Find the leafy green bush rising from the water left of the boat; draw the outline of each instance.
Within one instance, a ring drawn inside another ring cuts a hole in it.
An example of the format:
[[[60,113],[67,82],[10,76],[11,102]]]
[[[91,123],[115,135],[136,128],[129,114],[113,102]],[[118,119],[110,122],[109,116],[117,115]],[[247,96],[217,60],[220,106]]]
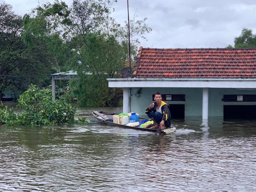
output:
[[[53,125],[58,123],[75,123],[74,115],[77,110],[65,101],[63,96],[52,101],[51,90],[31,85],[18,99],[17,107],[22,111],[15,114],[13,109],[0,109],[0,123],[9,125]],[[86,123],[83,119],[81,123]]]

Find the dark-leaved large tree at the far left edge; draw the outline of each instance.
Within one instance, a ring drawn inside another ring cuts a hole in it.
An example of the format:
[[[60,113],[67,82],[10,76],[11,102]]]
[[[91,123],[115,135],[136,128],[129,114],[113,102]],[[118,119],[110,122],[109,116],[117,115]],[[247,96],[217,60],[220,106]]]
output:
[[[49,85],[50,78],[30,76],[49,76],[57,63],[45,49],[45,42],[34,39],[30,49],[23,43],[22,18],[14,14],[12,6],[0,4],[0,92],[25,91],[30,83]],[[18,77],[15,77],[18,76]],[[21,77],[26,76],[26,77]],[[2,95],[0,95],[0,99]]]

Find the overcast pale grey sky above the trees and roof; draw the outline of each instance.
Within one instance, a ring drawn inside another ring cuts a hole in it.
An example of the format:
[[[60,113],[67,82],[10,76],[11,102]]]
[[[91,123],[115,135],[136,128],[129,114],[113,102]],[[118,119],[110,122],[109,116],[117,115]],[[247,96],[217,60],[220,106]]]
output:
[[[0,2],[3,0],[0,0]],[[5,0],[15,13],[23,15],[38,5],[38,0]],[[52,0],[39,0],[42,5]],[[72,0],[65,1],[71,5]],[[124,25],[127,1],[114,3],[113,17]],[[143,47],[209,48],[234,45],[243,27],[256,33],[256,0],[129,0],[130,18],[137,10],[138,19],[147,17],[153,29]]]

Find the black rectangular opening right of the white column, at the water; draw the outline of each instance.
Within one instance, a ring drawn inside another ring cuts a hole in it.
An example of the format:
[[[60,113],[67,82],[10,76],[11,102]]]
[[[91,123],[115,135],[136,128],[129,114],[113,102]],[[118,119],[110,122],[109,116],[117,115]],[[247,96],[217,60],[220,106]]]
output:
[[[224,119],[256,119],[256,105],[223,105]]]

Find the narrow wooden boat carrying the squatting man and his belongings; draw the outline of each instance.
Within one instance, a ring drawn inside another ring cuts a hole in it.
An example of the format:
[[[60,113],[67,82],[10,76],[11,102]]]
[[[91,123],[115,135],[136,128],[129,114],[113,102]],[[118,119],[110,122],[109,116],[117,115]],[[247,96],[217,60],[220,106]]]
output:
[[[109,125],[128,128],[128,129],[136,129],[136,130],[141,130],[141,131],[157,132],[157,129],[143,128],[143,127],[138,127],[138,126],[127,126],[127,125],[122,125],[122,124],[118,124],[118,123],[113,123],[110,121],[110,118],[112,117],[112,115],[118,115],[116,113],[111,113],[111,112],[107,112],[107,111],[93,111],[92,114],[96,119],[98,119],[102,123],[106,123]],[[143,120],[143,119],[147,119],[147,118],[140,117],[139,119]],[[162,133],[166,133],[166,134],[174,133],[175,131],[176,131],[175,127],[168,127],[166,129],[161,130]]]

